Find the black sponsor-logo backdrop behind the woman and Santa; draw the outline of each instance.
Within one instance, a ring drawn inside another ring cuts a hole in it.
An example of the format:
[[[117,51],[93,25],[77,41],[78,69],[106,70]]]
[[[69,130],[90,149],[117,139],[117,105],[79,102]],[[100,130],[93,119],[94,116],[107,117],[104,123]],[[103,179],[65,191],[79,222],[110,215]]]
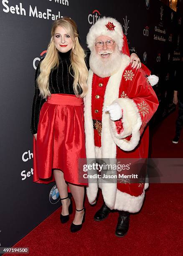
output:
[[[47,11],[53,16],[47,18]],[[60,206],[55,183],[33,183],[30,133],[34,72],[47,49],[54,15],[76,21],[84,48],[92,23],[104,15],[117,18],[130,51],[160,78],[154,87],[160,107],[153,122],[174,109],[173,81],[180,59],[182,20],[160,1],[1,1],[1,246],[15,244]]]

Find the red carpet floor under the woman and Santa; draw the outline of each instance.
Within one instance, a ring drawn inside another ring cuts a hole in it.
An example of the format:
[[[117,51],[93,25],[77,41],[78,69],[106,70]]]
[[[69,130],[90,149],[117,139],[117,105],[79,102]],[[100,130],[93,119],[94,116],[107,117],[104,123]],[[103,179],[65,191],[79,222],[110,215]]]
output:
[[[183,143],[171,143],[175,119],[176,113],[173,113],[153,131],[151,157],[183,157]],[[100,223],[93,220],[102,204],[100,193],[96,206],[91,207],[86,199],[86,220],[78,233],[72,234],[69,230],[74,215],[69,223],[62,225],[61,209],[58,209],[15,247],[29,247],[31,256],[183,255],[182,198],[183,184],[150,184],[142,210],[131,215],[127,236],[117,238],[114,235],[117,212],[110,213]]]

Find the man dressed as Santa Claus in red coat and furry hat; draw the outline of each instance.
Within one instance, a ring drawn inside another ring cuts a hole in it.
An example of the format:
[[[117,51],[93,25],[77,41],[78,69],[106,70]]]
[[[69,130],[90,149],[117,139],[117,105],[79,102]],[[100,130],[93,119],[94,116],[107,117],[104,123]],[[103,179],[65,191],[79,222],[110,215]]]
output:
[[[133,69],[124,54],[121,24],[103,17],[91,26],[87,44],[91,51],[88,93],[84,118],[87,159],[147,158],[148,122],[158,108],[158,99],[147,79],[148,69]],[[110,160],[109,160],[110,161]],[[86,188],[88,200],[95,203],[98,187],[104,204],[94,220],[104,220],[111,210],[119,211],[116,236],[123,237],[129,228],[130,212],[142,206],[147,183],[93,182]]]

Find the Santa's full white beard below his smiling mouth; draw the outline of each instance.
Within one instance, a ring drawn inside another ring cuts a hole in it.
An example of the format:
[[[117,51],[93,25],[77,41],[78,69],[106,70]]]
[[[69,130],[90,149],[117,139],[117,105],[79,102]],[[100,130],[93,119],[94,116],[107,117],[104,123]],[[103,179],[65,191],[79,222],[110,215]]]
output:
[[[109,57],[101,57],[95,50],[91,52],[89,66],[94,74],[99,77],[110,77],[115,74],[121,66],[122,53],[115,50]]]

